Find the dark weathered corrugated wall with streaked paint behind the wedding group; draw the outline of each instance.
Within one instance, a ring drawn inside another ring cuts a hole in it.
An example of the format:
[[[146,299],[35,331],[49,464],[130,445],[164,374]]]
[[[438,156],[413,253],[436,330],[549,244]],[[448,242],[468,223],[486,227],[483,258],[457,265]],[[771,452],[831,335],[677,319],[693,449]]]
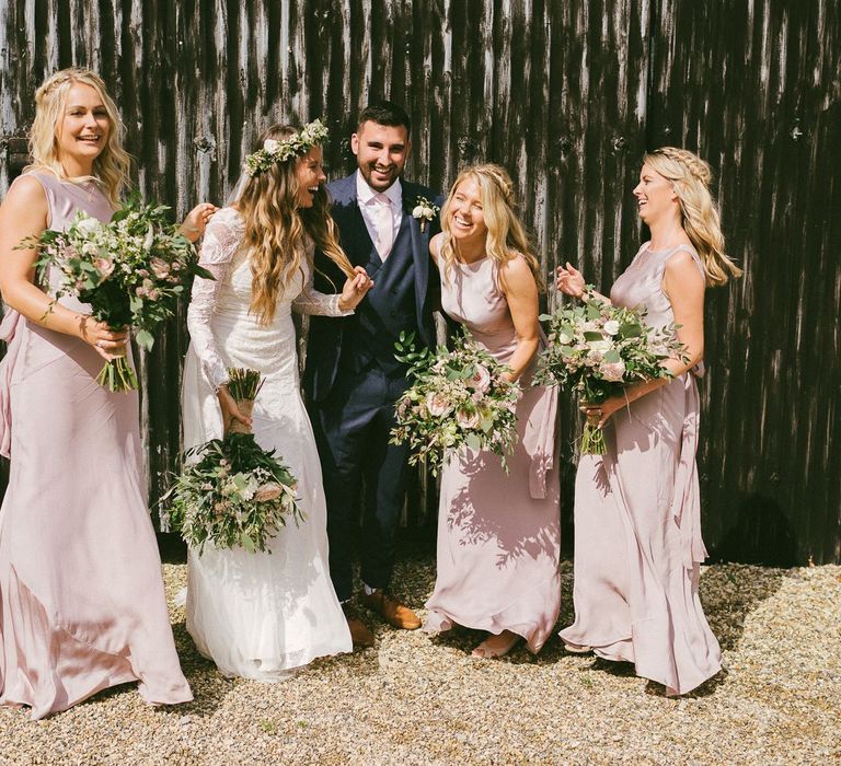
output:
[[[643,152],[696,150],[747,270],[707,300],[706,539],[735,560],[839,561],[839,35],[832,0],[2,0],[0,192],[59,67],[101,72],[141,190],[178,214],[224,200],[272,120],[323,115],[344,173],[353,116],[385,96],[415,123],[410,177],[446,188],[503,163],[546,270],[568,258],[608,289],[644,236]],[[142,365],[153,497],[180,449],[186,343],[180,316]],[[562,420],[568,542],[578,418]]]

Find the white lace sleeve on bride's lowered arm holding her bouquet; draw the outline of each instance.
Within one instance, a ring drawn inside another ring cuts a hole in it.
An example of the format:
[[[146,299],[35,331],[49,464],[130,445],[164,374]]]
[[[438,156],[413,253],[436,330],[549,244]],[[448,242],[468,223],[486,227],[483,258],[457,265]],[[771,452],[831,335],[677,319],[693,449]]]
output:
[[[214,280],[196,277],[187,309],[187,329],[193,348],[201,363],[205,379],[215,391],[228,382],[228,369],[219,356],[210,320],[231,260],[242,240],[242,233],[237,229],[235,214],[233,210],[220,210],[207,224],[198,263],[214,275]]]

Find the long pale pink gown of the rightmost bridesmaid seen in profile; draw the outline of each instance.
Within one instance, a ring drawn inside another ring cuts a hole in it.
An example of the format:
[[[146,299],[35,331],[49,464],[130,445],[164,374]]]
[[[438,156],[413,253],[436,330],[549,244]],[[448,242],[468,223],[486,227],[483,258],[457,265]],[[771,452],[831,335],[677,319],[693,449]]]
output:
[[[644,244],[610,292],[646,307],[646,322],[675,321],[663,291],[666,262],[688,245]],[[721,670],[721,651],[698,595],[701,506],[695,451],[699,397],[686,373],[613,414],[607,454],[581,455],[575,485],[575,624],[561,637],[686,694]]]

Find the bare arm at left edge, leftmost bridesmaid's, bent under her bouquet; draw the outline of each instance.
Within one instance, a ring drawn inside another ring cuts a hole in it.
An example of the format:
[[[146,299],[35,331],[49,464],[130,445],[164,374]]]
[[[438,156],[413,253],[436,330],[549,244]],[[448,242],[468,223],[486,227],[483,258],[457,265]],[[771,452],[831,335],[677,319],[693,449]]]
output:
[[[23,177],[9,189],[0,206],[0,293],[3,302],[30,322],[93,346],[105,359],[122,356],[128,334],[112,330],[90,315],[70,311],[35,286],[35,249],[15,249],[21,240],[38,236],[47,228],[49,209],[35,178]],[[108,353],[114,351],[114,353]]]

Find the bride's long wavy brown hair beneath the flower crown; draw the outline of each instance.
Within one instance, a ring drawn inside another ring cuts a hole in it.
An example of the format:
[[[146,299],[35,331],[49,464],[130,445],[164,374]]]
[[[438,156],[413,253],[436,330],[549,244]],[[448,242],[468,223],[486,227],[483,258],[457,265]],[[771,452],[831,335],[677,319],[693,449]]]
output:
[[[273,125],[261,137],[258,147],[263,147],[266,139],[283,141],[296,132],[298,128],[291,125]],[[264,326],[274,320],[277,298],[301,265],[307,260],[313,267],[309,240],[345,276],[354,274],[354,267],[338,244],[324,187],[319,187],[311,208],[299,206],[295,171],[302,156],[274,163],[266,172],[252,176],[235,204],[245,221],[244,242],[252,248],[251,311]]]

